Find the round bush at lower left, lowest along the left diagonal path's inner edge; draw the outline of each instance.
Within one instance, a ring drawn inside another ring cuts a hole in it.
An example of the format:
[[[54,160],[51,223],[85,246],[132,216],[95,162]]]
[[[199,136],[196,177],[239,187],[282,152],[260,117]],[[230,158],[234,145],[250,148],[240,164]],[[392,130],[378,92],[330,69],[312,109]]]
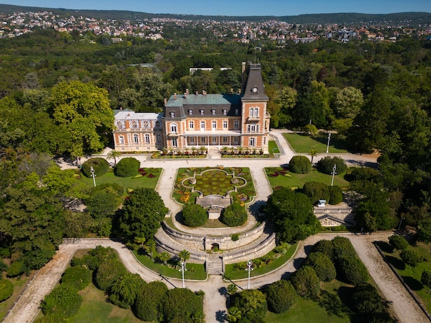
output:
[[[82,302],[78,290],[66,284],[52,289],[43,299],[41,308],[45,315],[58,314],[62,318],[70,318],[78,313]]]

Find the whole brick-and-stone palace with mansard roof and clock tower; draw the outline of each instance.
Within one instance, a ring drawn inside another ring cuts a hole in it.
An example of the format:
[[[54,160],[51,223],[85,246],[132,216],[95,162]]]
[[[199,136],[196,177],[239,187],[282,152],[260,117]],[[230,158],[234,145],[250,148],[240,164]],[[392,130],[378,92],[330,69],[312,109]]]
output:
[[[156,151],[194,147],[242,146],[268,151],[270,115],[266,111],[260,64],[242,63],[240,93],[174,93],[162,113],[118,111],[117,151]]]

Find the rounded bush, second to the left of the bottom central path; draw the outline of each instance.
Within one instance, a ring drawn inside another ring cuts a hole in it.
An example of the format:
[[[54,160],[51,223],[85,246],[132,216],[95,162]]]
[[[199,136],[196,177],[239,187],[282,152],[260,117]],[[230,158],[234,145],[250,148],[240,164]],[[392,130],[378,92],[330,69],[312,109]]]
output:
[[[148,322],[157,321],[162,310],[161,302],[167,291],[163,282],[154,281],[144,285],[133,307],[136,318]]]

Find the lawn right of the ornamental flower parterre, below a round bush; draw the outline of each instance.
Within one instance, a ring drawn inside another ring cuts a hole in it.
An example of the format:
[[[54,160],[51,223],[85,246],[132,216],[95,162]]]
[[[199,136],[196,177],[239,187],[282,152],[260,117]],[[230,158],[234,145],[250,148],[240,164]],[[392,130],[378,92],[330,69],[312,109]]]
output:
[[[282,170],[283,168],[265,168],[266,177],[269,180],[272,188],[276,188],[279,186],[284,186],[286,188],[302,188],[304,183],[307,181],[319,181],[321,183],[326,183],[326,185],[330,185],[332,181],[332,175],[326,175],[322,172],[317,172],[317,170],[313,169],[308,174],[295,174],[294,172],[286,172],[287,175],[278,175],[276,177],[268,176],[268,174],[273,174],[274,170]],[[349,182],[344,179],[344,174],[335,175],[334,177],[334,185],[341,186],[341,188],[348,188]]]

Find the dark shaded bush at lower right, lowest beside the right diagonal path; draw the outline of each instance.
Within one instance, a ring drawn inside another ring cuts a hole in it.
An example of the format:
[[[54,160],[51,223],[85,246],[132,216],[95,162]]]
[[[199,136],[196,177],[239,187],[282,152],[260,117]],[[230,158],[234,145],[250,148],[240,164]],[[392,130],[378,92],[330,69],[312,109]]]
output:
[[[361,284],[353,288],[351,293],[352,306],[358,314],[381,313],[383,304],[377,289],[370,284]]]

